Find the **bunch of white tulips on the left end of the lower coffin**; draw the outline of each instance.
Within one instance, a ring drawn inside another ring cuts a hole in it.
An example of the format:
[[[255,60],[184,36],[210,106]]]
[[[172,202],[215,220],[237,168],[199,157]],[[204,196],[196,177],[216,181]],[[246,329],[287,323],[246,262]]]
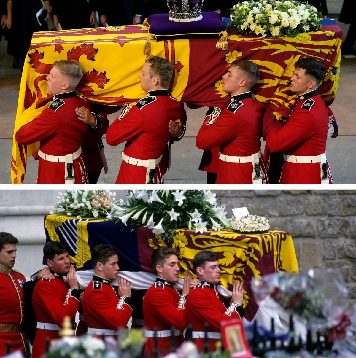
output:
[[[122,199],[116,200],[115,195],[109,190],[66,190],[65,193],[58,193],[58,201],[54,205],[56,209],[49,213],[61,213],[78,219],[105,219],[114,205],[122,203]]]

